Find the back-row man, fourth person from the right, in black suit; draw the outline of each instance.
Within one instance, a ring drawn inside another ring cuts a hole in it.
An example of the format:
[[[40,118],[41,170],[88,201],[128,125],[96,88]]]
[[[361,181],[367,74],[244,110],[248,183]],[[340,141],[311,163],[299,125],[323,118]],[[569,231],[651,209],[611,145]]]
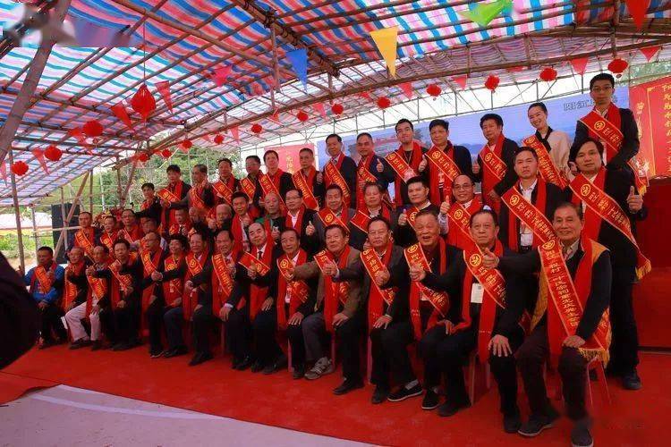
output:
[[[420,173],[429,174],[431,203],[440,206],[452,198],[452,183],[458,175],[473,179],[471,153],[463,146],[454,146],[449,140],[449,122],[433,120],[429,123],[429,134],[433,146],[421,161]]]

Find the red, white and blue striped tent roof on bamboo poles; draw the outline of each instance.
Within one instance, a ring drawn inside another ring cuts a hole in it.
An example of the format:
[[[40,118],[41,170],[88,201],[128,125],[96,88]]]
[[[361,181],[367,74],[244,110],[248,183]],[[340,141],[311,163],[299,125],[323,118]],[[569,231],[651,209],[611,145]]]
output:
[[[190,138],[232,150],[323,123],[322,111],[326,119],[338,119],[330,109],[333,102],[344,106],[347,117],[377,107],[380,96],[400,101],[400,86],[408,81],[418,91],[432,82],[458,90],[455,78],[468,75],[468,88],[480,88],[489,74],[502,85],[537,79],[544,66],[553,66],[560,76],[573,74],[569,61],[583,56],[590,57],[588,70],[603,69],[616,48],[630,64],[645,60],[637,48],[662,46],[657,56],[662,59],[671,52],[671,0],[650,1],[642,31],[633,24],[628,2],[515,0],[486,27],[462,14],[491,3],[506,2],[72,0],[67,21],[123,30],[140,45],[55,46],[13,140],[14,161],[30,166],[17,177],[20,202],[36,201],[129,149],[173,148]],[[9,20],[14,6],[13,0],[0,0],[0,23]],[[398,29],[395,78],[387,74],[369,34],[389,27]],[[4,54],[7,44],[0,41],[0,122],[37,51],[15,47]],[[290,57],[295,49],[308,56],[305,85]],[[217,77],[225,79],[217,82]],[[161,81],[169,85],[172,111],[157,92]],[[130,100],[143,83],[157,109],[147,122],[132,114],[129,129],[110,107],[121,103],[132,112]],[[308,122],[299,122],[299,110],[309,115]],[[82,146],[72,130],[94,119],[104,132]],[[255,122],[263,133],[251,132]],[[212,136],[225,130],[224,144],[215,145]],[[30,150],[49,144],[64,156],[47,162],[47,174]],[[8,182],[0,183],[0,205],[8,204]]]

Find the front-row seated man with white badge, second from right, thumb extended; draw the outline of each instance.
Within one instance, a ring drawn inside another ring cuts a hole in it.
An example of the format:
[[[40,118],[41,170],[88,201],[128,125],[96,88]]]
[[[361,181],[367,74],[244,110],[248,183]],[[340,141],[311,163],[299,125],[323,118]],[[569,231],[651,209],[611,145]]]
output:
[[[523,283],[533,281],[533,276],[513,272],[501,275],[481,268],[482,252],[514,255],[497,240],[497,215],[493,211],[481,210],[471,215],[470,232],[477,248],[457,254],[445,274],[438,276],[420,266],[410,266],[412,281],[450,294],[450,314],[458,318],[445,321],[448,336],[437,347],[447,388],[446,402],[438,408],[438,414],[452,416],[471,405],[462,366],[475,349],[480,362],[488,358],[497,380],[505,433],[517,433],[521,420],[513,355],[524,338],[520,320],[529,299]]]

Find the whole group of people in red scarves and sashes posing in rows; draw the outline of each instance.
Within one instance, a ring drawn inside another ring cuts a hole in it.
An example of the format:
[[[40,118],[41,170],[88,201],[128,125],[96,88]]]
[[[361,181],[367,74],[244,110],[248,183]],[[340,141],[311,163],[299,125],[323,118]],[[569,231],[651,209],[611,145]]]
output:
[[[403,119],[385,158],[369,133],[357,137],[358,163],[329,135],[321,171],[309,148],[293,174],[273,150],[266,173],[248,156],[242,179],[227,158],[215,182],[202,164],[191,185],[168,166],[165,188],[142,185],[140,210],[106,215],[102,228],[82,212],[67,267],[39,249],[25,283],[41,309],[40,346],[67,340],[64,315],[71,349],[128,350],[148,336],[152,358],[172,358],[189,351],[188,325],[196,366],[222,327],[234,369],[273,374],[289,357],[294,379],[315,380],[337,357],[334,392],[344,394],[363,386],[369,340],[371,401],[423,395],[421,408],[441,416],[471,405],[463,365],[475,352],[497,381],[505,432],[525,436],[558,417],[548,365],[561,376],[573,445],[591,445],[588,365],[641,388],[632,288],[650,270],[634,238],[646,215],[636,124],[612,104],[614,88],[607,74],[590,81],[594,108],[573,145],[542,103],[529,107],[537,131],[522,146],[484,114],[474,163],[448,122],[431,122],[433,146],[422,148]],[[531,407],[523,423],[518,371]]]

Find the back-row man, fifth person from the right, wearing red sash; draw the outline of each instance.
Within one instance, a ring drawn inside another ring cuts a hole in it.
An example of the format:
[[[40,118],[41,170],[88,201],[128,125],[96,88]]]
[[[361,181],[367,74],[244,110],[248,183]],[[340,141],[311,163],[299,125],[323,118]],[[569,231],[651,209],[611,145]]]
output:
[[[386,156],[386,162],[395,173],[394,180],[394,202],[396,207],[404,207],[410,204],[408,198],[408,186],[406,181],[420,175],[420,164],[427,148],[422,148],[420,143],[414,139],[415,129],[410,120],[405,118],[396,122],[396,139],[401,146]],[[429,171],[422,173],[428,177]]]

